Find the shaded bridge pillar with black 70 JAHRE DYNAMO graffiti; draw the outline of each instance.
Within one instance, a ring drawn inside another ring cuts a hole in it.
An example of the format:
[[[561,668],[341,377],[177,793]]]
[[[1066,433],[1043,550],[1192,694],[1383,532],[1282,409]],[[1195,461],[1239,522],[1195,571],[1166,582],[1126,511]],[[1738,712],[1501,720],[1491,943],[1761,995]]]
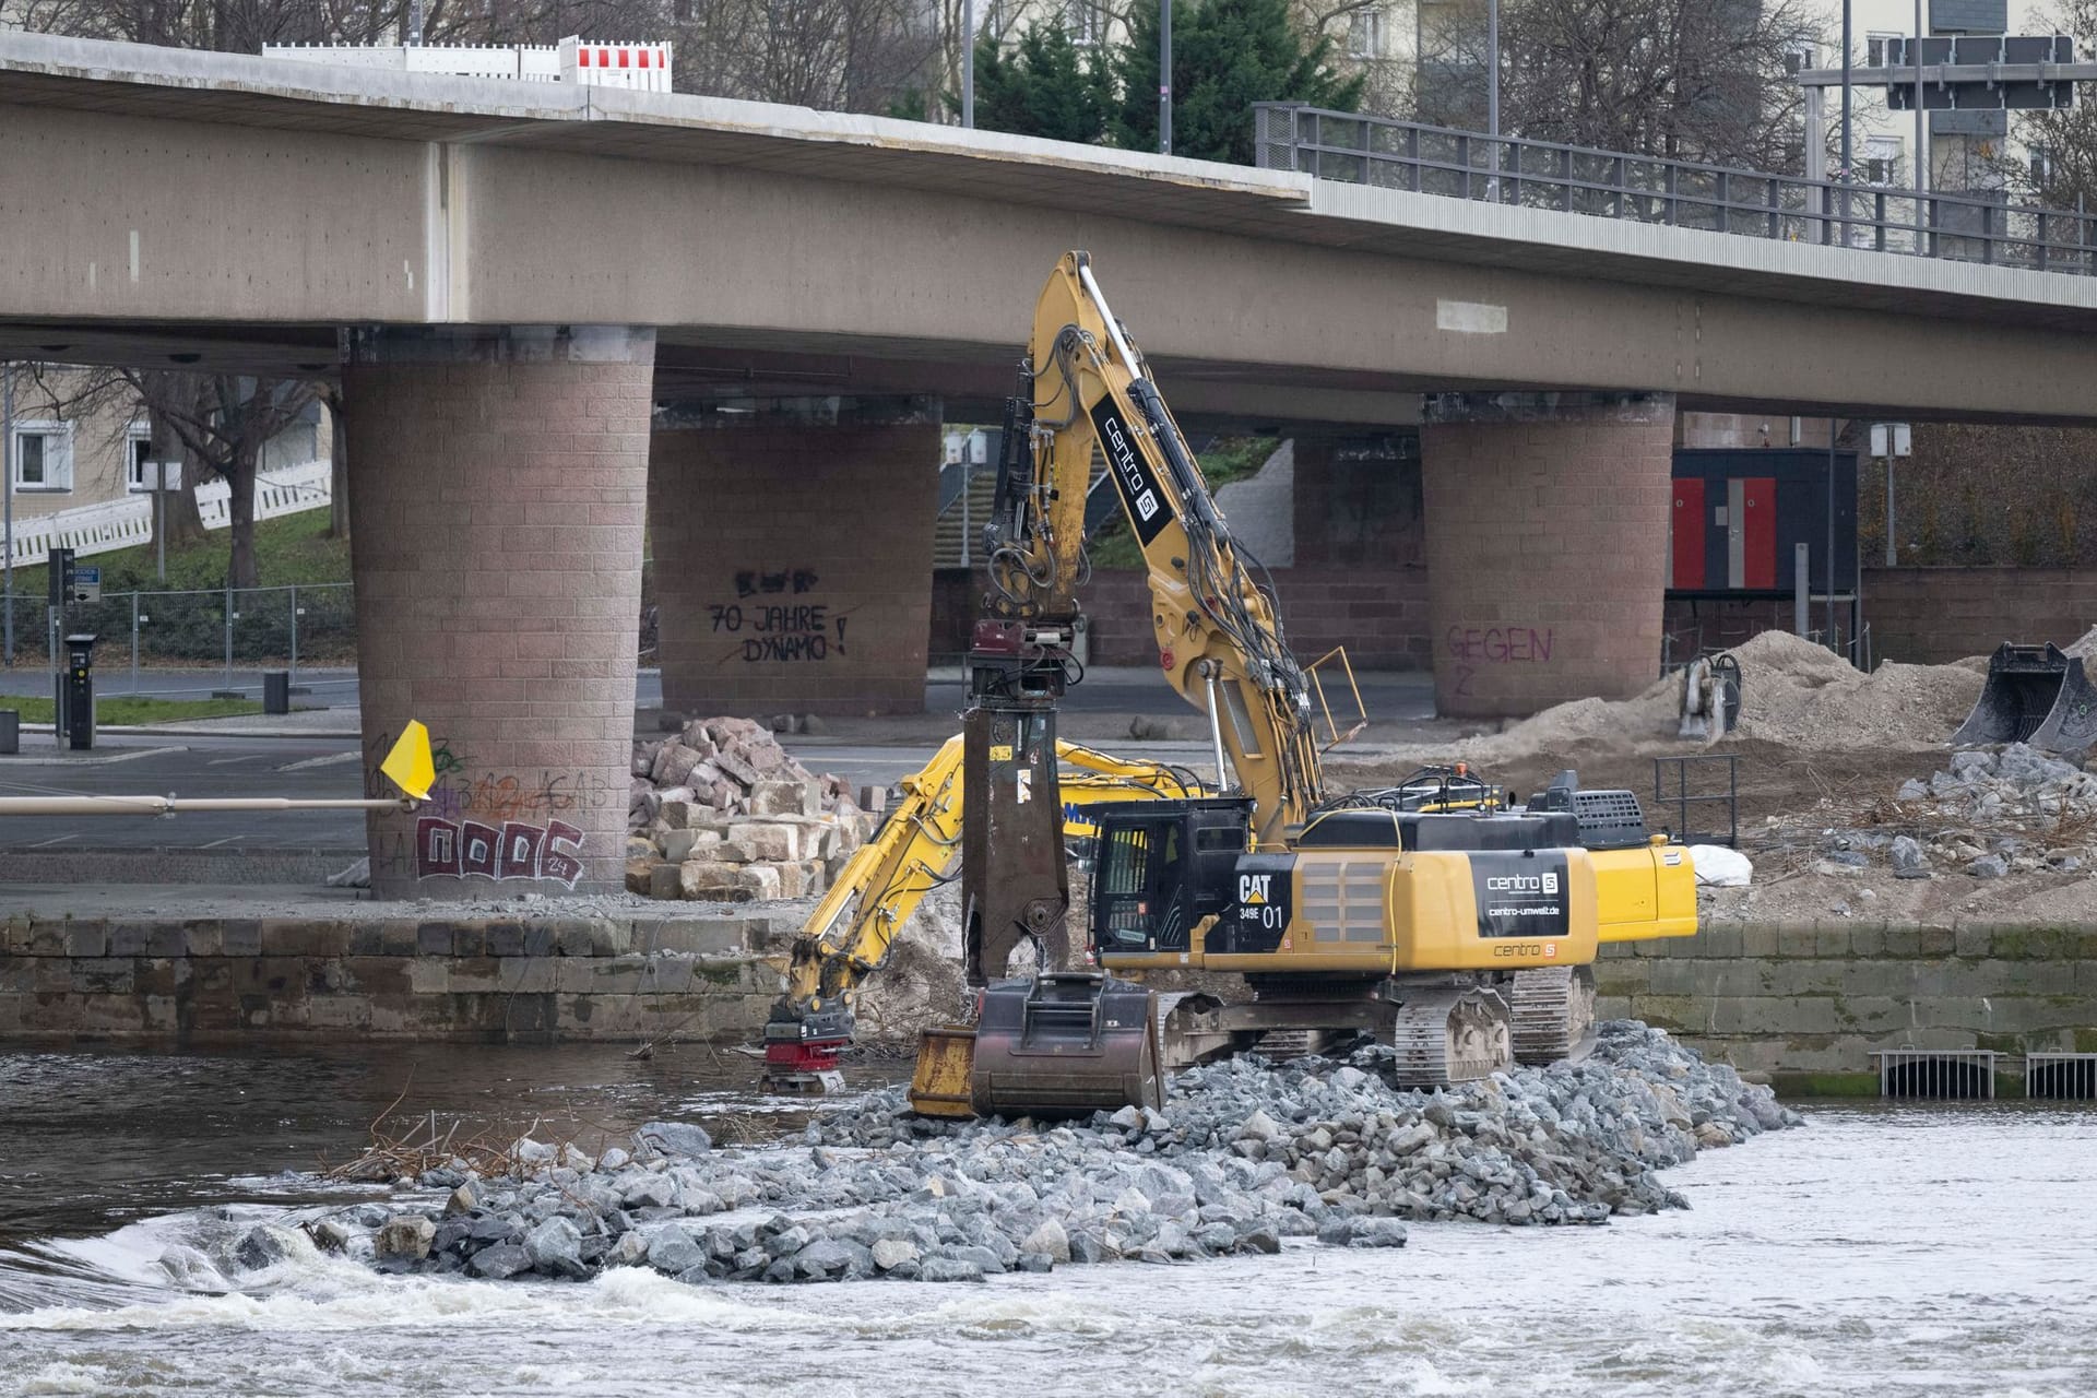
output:
[[[925,711],[937,398],[747,398],[654,415],[663,706]]]

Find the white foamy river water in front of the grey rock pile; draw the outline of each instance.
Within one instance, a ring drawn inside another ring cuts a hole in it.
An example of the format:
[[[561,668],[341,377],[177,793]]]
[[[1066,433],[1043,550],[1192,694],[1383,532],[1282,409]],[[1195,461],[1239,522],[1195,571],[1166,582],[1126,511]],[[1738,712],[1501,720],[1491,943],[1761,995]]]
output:
[[[1820,1111],[1673,1172],[1686,1214],[979,1287],[390,1279],[300,1249],[182,1293],[161,1251],[262,1207],[174,1214],[31,1247],[65,1285],[0,1314],[0,1394],[2087,1398],[2091,1161],[2093,1113]]]

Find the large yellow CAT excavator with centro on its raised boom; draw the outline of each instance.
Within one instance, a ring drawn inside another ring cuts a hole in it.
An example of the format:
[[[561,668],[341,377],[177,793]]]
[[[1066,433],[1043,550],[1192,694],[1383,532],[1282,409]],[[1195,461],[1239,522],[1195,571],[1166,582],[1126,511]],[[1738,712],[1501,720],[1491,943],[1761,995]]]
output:
[[[1629,792],[1564,773],[1516,805],[1455,769],[1325,792],[1313,679],[1264,570],[1233,541],[1082,252],[1042,289],[1004,428],[960,811],[935,826],[946,849],[958,832],[969,981],[983,989],[973,1025],[927,1033],[921,1113],[1155,1107],[1176,1067],[1361,1033],[1397,1048],[1403,1082],[1474,1079],[1581,1040],[1604,926],[1696,931],[1688,851],[1648,834]],[[1055,711],[1076,673],[1095,453],[1145,558],[1160,669],[1206,713],[1227,788],[1090,805],[1093,968],[990,981],[1069,910]],[[1235,973],[1246,996],[1139,981],[1168,970]],[[801,968],[803,983],[820,977]]]

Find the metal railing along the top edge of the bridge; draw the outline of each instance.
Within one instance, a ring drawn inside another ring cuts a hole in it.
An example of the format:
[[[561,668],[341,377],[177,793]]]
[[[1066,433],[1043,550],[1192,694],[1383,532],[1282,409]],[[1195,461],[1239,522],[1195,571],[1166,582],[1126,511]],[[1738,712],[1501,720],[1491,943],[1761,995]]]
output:
[[[1256,159],[1323,180],[1527,210],[2097,275],[2097,214],[1728,170],[1256,103]]]

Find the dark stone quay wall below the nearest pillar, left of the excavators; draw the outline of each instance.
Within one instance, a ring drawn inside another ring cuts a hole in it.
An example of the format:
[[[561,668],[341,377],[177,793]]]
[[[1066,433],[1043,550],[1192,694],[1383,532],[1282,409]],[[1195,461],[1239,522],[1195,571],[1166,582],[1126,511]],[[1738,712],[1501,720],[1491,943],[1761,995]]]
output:
[[[0,1040],[740,1040],[803,910],[617,918],[27,918]]]

